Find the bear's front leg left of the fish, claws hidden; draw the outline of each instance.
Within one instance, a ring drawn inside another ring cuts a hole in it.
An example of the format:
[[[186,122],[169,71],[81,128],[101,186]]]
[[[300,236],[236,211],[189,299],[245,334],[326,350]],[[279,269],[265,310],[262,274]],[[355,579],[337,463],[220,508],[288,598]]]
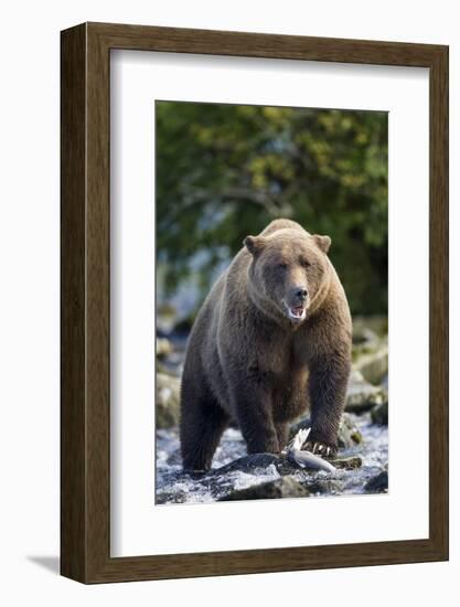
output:
[[[246,384],[234,394],[239,428],[248,454],[277,454],[278,435],[272,417],[272,396],[260,385]]]

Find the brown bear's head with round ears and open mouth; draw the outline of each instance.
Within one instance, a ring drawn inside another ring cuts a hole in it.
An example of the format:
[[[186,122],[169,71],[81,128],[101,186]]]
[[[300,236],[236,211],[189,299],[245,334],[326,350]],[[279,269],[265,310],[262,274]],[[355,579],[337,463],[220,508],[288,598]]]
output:
[[[253,256],[249,280],[265,309],[298,324],[329,278],[329,236],[279,230],[267,236],[247,236]],[[265,305],[266,303],[266,305]]]

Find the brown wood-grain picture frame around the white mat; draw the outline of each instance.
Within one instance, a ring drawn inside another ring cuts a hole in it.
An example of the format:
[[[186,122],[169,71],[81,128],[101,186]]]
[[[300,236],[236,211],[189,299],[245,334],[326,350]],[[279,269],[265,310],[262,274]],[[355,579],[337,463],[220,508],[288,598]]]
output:
[[[429,537],[110,556],[110,52],[429,70]],[[61,573],[92,584],[448,560],[448,47],[84,23],[61,34]]]

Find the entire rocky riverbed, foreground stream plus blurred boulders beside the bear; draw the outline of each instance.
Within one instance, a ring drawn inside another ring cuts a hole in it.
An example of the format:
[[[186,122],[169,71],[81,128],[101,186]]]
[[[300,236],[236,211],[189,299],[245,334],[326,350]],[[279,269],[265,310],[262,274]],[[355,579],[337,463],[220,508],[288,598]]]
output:
[[[221,440],[213,468],[201,476],[182,471],[179,444],[179,387],[185,340],[157,342],[156,503],[274,499],[376,493],[388,490],[387,342],[384,334],[355,322],[353,373],[339,439],[335,471],[300,468],[287,456],[248,456],[238,428]],[[292,434],[308,427],[292,425]]]

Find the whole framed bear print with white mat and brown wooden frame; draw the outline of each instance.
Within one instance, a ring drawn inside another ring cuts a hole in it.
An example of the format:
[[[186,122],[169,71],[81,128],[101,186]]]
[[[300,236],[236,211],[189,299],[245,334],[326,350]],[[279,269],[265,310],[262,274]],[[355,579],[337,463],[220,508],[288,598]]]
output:
[[[62,574],[448,558],[448,47],[62,32]]]

